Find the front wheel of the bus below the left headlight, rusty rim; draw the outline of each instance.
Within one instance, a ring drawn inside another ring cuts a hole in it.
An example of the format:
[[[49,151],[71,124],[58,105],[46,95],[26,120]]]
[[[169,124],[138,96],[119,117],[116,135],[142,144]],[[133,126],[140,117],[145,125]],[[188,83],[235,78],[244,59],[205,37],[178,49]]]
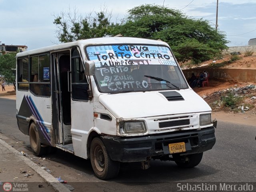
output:
[[[96,177],[102,180],[114,178],[118,175],[120,162],[112,161],[102,140],[94,138],[90,146],[90,161]]]

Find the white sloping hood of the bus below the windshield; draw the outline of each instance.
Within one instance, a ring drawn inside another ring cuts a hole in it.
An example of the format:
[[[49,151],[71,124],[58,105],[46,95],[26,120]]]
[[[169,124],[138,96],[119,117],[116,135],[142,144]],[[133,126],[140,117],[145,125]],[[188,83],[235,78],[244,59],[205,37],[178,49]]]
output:
[[[168,101],[160,92],[131,92],[100,95],[99,101],[117,119],[143,118],[168,114],[211,111],[210,106],[193,90],[174,90],[184,98]]]

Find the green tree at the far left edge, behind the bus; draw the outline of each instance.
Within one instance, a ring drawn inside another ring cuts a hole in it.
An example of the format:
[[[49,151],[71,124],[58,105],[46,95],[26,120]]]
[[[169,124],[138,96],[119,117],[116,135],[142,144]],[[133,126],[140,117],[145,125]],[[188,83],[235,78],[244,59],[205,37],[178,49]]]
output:
[[[16,53],[0,55],[0,74],[6,82],[11,82],[16,90]]]

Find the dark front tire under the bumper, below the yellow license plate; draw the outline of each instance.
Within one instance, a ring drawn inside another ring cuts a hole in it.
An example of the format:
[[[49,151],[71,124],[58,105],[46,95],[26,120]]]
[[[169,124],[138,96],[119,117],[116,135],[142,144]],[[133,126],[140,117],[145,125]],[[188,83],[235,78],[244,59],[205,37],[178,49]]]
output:
[[[190,154],[186,156],[173,155],[175,163],[182,168],[192,168],[197,166],[201,162],[202,157],[203,153]]]

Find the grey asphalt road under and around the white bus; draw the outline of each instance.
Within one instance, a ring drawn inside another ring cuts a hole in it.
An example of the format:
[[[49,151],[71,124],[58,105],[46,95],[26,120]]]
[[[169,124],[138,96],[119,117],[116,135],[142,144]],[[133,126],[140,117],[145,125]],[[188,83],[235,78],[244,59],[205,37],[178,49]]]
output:
[[[24,148],[32,156],[28,136],[17,127],[15,100],[0,98],[0,106],[0,132],[24,141],[14,147]],[[256,182],[256,126],[218,122],[217,127],[214,148],[205,152],[202,162],[192,169],[180,169],[174,162],[159,160],[152,160],[148,170],[140,170],[138,163],[122,164],[118,178],[100,182],[93,175],[90,161],[61,150],[47,155],[40,164],[52,170],[53,176],[68,180],[77,190],[87,187],[89,191],[170,191],[168,182]]]

